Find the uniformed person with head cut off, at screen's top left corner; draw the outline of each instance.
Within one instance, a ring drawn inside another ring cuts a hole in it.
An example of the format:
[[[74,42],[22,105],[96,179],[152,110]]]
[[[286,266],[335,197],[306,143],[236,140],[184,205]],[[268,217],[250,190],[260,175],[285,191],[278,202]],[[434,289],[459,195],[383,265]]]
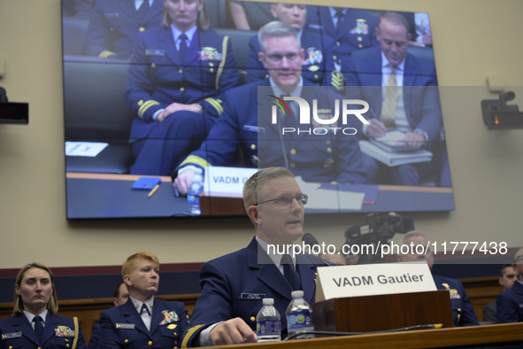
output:
[[[162,0],[97,0],[83,53],[102,58],[130,58],[139,32],[161,26]]]

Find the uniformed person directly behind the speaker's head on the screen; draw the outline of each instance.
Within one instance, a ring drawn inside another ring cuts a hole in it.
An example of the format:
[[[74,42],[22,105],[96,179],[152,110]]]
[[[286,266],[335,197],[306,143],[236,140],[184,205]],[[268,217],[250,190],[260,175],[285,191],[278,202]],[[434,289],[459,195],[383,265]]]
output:
[[[287,23],[298,32],[305,53],[302,72],[304,79],[317,85],[330,84],[330,74],[335,69],[334,42],[327,39],[324,41],[317,31],[304,27],[307,6],[304,4],[271,4],[271,12],[275,19]],[[249,42],[247,82],[260,81],[269,77],[263,62],[258,57],[260,51],[258,35],[253,35]]]

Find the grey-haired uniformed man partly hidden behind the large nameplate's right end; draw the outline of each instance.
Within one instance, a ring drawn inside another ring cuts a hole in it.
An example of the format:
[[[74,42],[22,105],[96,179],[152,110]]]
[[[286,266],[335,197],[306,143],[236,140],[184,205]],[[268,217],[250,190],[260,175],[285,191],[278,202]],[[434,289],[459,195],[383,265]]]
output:
[[[434,253],[427,249],[427,253],[412,253],[416,252],[416,246],[421,245],[422,251],[428,245],[427,237],[419,231],[410,231],[406,233],[401,242],[411,246],[410,252],[405,254],[398,254],[397,261],[400,262],[420,262],[426,261],[428,268],[432,271],[434,266]],[[401,250],[404,251],[404,250]],[[443,277],[433,274],[434,282],[438,290],[447,290],[450,295],[450,305],[452,306],[452,315],[454,317],[454,326],[475,326],[479,325],[478,318],[474,313],[473,304],[466,296],[465,287],[457,280],[450,277]]]

